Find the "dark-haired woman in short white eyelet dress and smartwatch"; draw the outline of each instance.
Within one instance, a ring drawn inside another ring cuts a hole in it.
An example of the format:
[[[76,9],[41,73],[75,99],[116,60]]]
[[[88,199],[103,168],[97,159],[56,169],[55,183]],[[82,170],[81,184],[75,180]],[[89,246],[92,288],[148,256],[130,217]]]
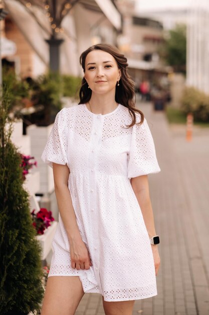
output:
[[[58,113],[42,156],[60,210],[42,315],[73,315],[84,292],[102,294],[106,315],[130,315],[157,294],[147,174],[160,169],[124,55],[98,44],[80,63],[80,103]]]

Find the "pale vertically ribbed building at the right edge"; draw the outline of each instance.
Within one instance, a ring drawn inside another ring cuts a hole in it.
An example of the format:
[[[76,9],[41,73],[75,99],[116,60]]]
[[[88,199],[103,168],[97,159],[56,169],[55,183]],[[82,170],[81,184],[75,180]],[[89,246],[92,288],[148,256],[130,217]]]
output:
[[[209,94],[209,3],[192,1],[187,24],[186,84]]]

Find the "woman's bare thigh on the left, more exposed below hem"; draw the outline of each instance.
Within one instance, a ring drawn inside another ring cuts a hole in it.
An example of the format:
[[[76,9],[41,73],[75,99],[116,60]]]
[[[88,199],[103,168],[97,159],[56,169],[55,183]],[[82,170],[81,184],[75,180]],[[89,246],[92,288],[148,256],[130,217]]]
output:
[[[41,315],[74,315],[83,295],[78,276],[49,277]]]

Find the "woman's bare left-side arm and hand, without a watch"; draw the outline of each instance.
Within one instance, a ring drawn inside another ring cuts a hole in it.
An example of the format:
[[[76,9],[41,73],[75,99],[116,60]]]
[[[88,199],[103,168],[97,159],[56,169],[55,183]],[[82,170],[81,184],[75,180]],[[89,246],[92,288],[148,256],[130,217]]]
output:
[[[86,245],[81,238],[68,189],[70,170],[67,165],[53,163],[53,174],[58,207],[70,244],[71,266],[78,270],[89,269],[92,263]]]

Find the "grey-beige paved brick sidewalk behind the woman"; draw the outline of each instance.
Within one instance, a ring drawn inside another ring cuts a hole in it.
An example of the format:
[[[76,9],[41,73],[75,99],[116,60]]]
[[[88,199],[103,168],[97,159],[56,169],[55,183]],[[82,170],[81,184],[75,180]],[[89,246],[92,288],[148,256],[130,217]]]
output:
[[[169,127],[162,112],[140,105],[161,172],[149,176],[161,268],[158,295],[137,300],[133,315],[209,314],[209,130]],[[99,294],[85,294],[76,315],[104,315]]]

